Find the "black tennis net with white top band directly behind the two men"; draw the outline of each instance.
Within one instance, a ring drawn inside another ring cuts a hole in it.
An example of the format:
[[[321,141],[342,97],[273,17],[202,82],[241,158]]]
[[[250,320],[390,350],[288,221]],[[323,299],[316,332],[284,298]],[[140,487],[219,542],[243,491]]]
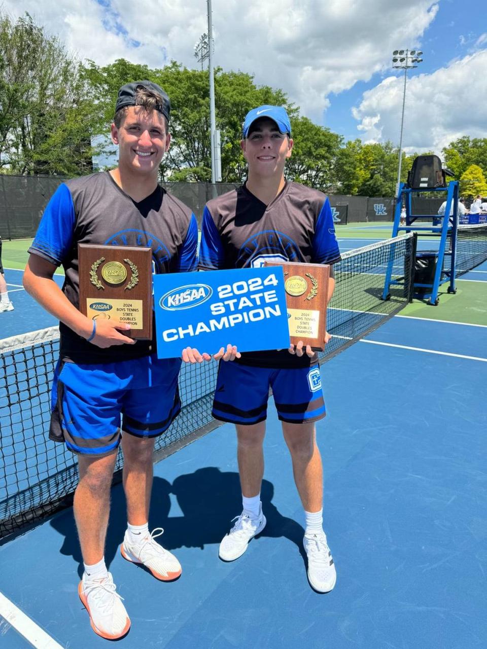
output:
[[[334,266],[336,289],[329,304],[332,339],[326,361],[399,312],[410,300],[416,235],[407,234],[345,252]],[[395,284],[382,300],[386,268]],[[50,389],[59,350],[56,327],[0,340],[0,539],[69,506],[78,480],[76,457],[49,441]],[[214,362],[184,364],[179,377],[183,408],[156,439],[155,460],[219,425],[211,406]],[[114,480],[121,477],[119,451]]]

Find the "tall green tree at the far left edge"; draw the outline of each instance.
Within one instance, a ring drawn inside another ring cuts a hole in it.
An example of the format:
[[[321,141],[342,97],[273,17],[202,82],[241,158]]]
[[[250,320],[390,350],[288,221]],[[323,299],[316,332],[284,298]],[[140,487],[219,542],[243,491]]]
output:
[[[95,113],[81,66],[29,14],[0,14],[0,169],[79,175],[91,169]]]

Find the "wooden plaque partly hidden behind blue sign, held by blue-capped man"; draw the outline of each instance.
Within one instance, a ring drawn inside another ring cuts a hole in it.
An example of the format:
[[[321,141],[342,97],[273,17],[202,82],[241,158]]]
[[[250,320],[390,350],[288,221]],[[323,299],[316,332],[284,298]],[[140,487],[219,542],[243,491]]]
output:
[[[310,345],[315,351],[325,349],[329,265],[321,263],[265,262],[282,266],[288,308],[291,344]]]

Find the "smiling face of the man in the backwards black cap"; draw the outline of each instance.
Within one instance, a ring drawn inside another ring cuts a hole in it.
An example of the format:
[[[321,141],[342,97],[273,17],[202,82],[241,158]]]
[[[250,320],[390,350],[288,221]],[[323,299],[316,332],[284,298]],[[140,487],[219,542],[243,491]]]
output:
[[[167,132],[166,118],[160,112],[129,106],[119,127],[112,124],[112,141],[118,144],[119,167],[132,173],[157,175],[171,136]]]

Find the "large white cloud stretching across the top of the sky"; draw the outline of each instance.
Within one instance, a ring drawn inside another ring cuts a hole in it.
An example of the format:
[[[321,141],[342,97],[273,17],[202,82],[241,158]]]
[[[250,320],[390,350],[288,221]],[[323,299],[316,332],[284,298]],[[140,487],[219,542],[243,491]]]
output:
[[[328,95],[369,80],[395,47],[419,45],[438,11],[432,0],[213,0],[215,63],[282,88],[321,123]],[[207,30],[203,0],[3,0],[34,16],[82,58],[149,67],[195,67]],[[121,27],[123,29],[121,29]],[[126,32],[125,32],[126,31]],[[134,47],[133,42],[140,42]]]

